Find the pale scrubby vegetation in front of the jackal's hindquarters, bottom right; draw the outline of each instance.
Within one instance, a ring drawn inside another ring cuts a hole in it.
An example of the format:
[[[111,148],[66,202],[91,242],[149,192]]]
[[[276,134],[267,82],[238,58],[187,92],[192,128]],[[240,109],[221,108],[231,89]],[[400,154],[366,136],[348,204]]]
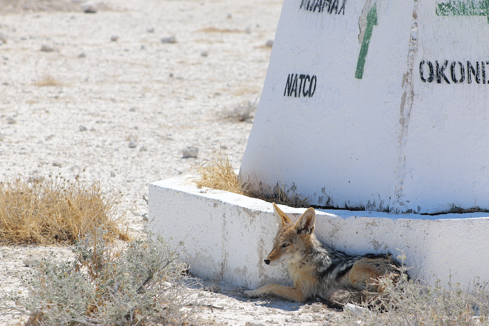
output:
[[[388,281],[387,281],[388,282]],[[475,282],[470,286],[433,285],[409,281],[401,286],[385,284],[389,301],[371,309],[348,307],[338,325],[362,326],[482,326],[489,325],[488,283]]]

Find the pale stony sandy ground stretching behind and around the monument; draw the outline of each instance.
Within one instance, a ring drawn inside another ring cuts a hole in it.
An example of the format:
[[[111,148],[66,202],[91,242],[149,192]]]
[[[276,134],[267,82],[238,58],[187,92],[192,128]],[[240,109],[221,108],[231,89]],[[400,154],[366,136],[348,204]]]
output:
[[[186,174],[224,149],[239,168],[251,122],[226,119],[259,98],[280,0],[0,1],[0,179],[82,175],[121,190],[133,233],[148,183]],[[177,43],[162,43],[175,37]],[[111,41],[111,37],[117,37]],[[52,51],[42,51],[51,48]],[[86,129],[86,130],[85,130]],[[130,143],[134,147],[130,148]],[[199,148],[182,158],[181,149]],[[1,180],[0,180],[1,181]],[[62,246],[0,246],[0,282],[22,291],[26,260]],[[202,320],[221,325],[323,325],[331,310],[247,300],[217,281]],[[22,325],[6,315],[0,325]]]

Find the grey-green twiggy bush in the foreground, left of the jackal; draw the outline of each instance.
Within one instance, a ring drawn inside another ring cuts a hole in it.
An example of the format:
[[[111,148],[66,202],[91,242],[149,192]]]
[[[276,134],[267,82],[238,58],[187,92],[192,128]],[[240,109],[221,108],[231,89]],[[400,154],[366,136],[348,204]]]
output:
[[[30,314],[26,325],[188,325],[200,307],[178,248],[160,236],[113,250],[99,231],[73,252],[74,261],[47,257],[23,278],[30,293],[16,298],[15,310]]]

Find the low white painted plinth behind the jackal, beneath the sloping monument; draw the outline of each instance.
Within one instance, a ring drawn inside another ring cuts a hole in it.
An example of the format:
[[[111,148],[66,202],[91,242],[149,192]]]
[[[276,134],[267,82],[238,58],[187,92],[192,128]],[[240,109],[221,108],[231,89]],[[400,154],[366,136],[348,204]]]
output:
[[[305,209],[280,206],[299,217]],[[389,214],[316,210],[314,233],[347,253],[403,250],[409,274],[428,282],[446,279],[469,284],[489,280],[489,214]],[[245,288],[289,284],[283,266],[263,260],[277,231],[266,201],[214,189],[199,189],[189,175],[149,185],[150,227],[175,241],[184,239],[193,274]],[[471,283],[471,282],[470,282]]]

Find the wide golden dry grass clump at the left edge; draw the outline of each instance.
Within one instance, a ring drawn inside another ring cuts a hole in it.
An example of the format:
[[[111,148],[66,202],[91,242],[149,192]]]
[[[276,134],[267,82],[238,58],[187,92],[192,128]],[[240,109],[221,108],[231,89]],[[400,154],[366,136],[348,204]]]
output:
[[[10,243],[74,243],[95,229],[129,240],[117,227],[121,193],[103,194],[99,182],[77,176],[22,178],[0,182],[0,239]]]

